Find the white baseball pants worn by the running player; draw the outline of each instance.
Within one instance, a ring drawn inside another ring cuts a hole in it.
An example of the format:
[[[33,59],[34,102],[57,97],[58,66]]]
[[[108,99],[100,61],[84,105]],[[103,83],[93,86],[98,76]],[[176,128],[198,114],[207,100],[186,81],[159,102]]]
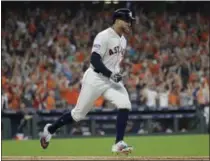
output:
[[[114,83],[101,74],[87,69],[82,79],[82,88],[75,108],[71,111],[72,118],[80,121],[94,107],[100,96],[114,104],[118,109],[131,110],[127,90],[122,83]]]

